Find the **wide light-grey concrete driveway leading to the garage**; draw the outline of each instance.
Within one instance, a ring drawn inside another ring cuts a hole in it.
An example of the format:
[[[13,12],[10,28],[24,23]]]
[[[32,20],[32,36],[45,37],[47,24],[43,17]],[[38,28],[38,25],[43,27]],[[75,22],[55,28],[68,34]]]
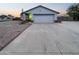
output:
[[[0,54],[79,54],[79,22],[33,24]]]

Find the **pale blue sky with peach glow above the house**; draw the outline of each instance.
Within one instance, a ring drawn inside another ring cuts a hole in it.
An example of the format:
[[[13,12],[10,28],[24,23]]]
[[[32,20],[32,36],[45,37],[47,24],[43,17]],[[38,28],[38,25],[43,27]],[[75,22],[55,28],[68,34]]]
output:
[[[43,5],[47,8],[60,12],[60,15],[65,15],[67,8],[72,5],[72,3],[0,3],[0,15],[11,14],[19,17],[22,9],[26,11],[38,5]]]

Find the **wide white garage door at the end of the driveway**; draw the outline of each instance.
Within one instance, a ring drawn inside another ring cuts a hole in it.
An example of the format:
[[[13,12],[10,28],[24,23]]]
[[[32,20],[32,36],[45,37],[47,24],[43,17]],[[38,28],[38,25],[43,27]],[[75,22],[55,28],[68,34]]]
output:
[[[53,14],[34,14],[33,20],[34,20],[34,23],[53,23],[54,15]]]

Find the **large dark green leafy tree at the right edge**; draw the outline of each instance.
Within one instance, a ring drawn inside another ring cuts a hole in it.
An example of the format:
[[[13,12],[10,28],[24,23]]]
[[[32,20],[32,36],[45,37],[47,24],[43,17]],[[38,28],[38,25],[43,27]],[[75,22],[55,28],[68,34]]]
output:
[[[67,10],[67,14],[70,17],[73,17],[74,21],[79,20],[79,4],[73,4],[71,5],[68,10]]]

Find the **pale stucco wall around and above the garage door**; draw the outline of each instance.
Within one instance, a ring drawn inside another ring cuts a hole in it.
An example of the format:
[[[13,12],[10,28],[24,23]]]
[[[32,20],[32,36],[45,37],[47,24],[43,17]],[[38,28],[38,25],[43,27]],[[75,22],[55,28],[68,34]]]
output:
[[[32,13],[32,20],[34,19],[33,14],[54,14],[54,20],[57,20],[57,13],[50,11],[50,10],[43,8],[43,7],[37,7],[37,8],[32,9],[31,11],[28,11],[28,12]],[[25,18],[25,16],[23,18]]]

